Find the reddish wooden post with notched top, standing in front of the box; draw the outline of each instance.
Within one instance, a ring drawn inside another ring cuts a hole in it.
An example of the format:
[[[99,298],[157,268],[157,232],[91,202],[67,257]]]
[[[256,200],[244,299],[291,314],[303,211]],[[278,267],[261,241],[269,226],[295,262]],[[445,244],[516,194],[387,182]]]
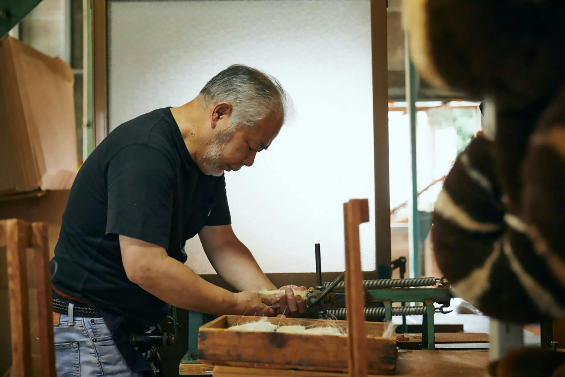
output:
[[[345,227],[345,299],[347,308],[347,344],[349,345],[349,375],[367,375],[365,331],[365,298],[359,224],[369,221],[367,199],[351,199],[344,203]]]

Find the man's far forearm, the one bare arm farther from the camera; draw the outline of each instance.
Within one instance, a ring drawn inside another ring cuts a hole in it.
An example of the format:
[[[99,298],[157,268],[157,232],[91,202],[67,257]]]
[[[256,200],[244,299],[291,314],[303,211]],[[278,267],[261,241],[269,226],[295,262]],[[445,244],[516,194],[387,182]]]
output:
[[[208,252],[208,259],[218,275],[234,289],[255,292],[276,289],[249,249],[239,240],[225,243],[218,250]]]

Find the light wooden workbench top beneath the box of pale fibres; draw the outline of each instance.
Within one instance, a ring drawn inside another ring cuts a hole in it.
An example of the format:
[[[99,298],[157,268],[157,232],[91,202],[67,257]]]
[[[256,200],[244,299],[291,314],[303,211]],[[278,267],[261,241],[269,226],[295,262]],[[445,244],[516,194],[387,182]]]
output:
[[[412,350],[398,353],[397,376],[484,376],[488,351]],[[337,376],[343,373],[215,366],[215,377],[227,376]]]

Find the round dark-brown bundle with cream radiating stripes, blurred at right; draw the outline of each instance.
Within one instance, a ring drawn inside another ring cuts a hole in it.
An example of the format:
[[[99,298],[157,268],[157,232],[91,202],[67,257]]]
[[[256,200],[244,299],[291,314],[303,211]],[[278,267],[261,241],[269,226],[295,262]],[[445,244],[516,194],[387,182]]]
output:
[[[454,292],[514,322],[565,308],[563,89],[529,122],[497,114],[494,140],[475,138],[438,196],[432,242]]]

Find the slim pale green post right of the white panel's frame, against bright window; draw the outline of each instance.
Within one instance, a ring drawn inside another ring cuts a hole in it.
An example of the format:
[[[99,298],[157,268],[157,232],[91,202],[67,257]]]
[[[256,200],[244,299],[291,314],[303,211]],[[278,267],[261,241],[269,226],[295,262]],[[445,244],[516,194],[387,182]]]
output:
[[[418,76],[408,49],[408,33],[405,37],[405,78],[406,78],[406,109],[410,121],[410,157],[412,173],[412,194],[408,200],[411,216],[408,219],[408,259],[410,261],[410,277],[421,276],[421,258],[418,232],[418,174],[416,170],[416,99],[418,98]]]

